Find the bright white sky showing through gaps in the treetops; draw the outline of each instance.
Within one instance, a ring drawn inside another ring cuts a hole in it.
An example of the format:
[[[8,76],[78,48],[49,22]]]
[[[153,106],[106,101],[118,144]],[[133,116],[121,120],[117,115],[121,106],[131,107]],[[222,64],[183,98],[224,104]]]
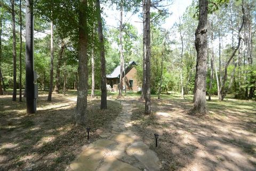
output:
[[[173,3],[170,1],[165,1],[163,5],[169,5],[169,12],[172,13],[169,18],[166,19],[166,22],[163,25],[163,28],[168,29],[171,28],[174,22],[178,22],[179,16],[181,16],[185,11],[186,8],[191,4],[192,0],[173,0]],[[105,15],[102,17],[106,21],[106,25],[108,27],[118,27],[119,26],[119,19],[120,19],[120,12],[116,10],[115,5],[109,7],[108,5],[104,5],[103,12]],[[142,9],[140,9],[142,11]],[[132,15],[131,12],[124,13],[123,21],[129,21],[133,26],[135,26],[138,30],[138,34],[142,33],[142,21],[138,17],[139,13]]]

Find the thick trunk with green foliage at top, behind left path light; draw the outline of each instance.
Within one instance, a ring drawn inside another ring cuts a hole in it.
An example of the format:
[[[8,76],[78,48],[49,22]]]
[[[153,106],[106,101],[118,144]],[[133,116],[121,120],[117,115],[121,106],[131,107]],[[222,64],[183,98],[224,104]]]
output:
[[[85,124],[88,94],[88,32],[87,32],[87,0],[79,3],[79,38],[78,38],[78,88],[75,112],[76,125]]]

